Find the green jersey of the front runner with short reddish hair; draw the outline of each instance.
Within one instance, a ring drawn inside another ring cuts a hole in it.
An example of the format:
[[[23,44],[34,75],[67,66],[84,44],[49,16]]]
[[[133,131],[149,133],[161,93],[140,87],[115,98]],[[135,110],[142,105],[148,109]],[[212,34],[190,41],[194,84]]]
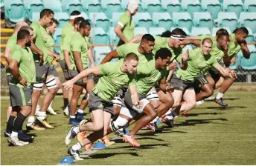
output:
[[[110,101],[118,93],[118,90],[132,82],[134,76],[132,74],[124,73],[121,70],[123,62],[107,62],[100,64],[100,79],[97,82],[93,92],[100,96],[101,99]]]

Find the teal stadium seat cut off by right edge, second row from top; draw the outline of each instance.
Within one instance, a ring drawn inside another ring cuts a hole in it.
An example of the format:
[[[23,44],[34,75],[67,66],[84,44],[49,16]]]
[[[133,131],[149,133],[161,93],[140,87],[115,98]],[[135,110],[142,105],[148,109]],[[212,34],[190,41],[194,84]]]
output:
[[[240,26],[249,27],[252,33],[256,33],[256,12],[241,12],[240,13]]]

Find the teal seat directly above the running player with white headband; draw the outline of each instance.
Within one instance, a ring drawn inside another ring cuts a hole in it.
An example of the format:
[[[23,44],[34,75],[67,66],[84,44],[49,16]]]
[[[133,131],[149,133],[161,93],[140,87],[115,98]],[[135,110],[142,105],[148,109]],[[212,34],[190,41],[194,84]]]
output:
[[[176,27],[187,27],[189,31],[193,27],[193,21],[191,15],[188,12],[173,12],[173,24],[176,24]]]

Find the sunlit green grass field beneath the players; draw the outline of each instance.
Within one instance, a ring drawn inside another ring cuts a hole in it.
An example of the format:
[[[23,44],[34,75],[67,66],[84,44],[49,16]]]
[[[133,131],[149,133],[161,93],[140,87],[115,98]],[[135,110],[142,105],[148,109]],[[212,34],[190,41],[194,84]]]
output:
[[[255,92],[228,92],[225,98],[226,109],[209,101],[192,110],[188,118],[176,119],[174,128],[160,124],[163,133],[142,130],[139,148],[118,141],[75,165],[256,165]],[[60,108],[62,99],[54,99],[59,114],[48,116],[56,128],[31,131],[28,134],[36,138],[25,147],[8,147],[4,138],[8,101],[1,99],[1,165],[57,165],[68,150],[69,125]]]

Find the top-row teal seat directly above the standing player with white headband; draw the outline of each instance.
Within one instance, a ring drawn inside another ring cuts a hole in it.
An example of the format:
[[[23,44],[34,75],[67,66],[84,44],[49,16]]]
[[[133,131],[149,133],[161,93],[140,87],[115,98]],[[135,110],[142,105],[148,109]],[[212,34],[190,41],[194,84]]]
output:
[[[62,0],[63,2],[63,11],[67,12],[70,14],[72,11],[77,10],[82,12],[83,11],[83,6],[80,3],[79,0]]]

